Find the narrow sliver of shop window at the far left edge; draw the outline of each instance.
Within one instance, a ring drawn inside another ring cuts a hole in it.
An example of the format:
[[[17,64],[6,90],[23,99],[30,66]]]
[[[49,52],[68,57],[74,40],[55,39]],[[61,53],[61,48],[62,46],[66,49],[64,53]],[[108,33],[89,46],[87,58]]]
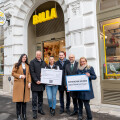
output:
[[[4,74],[4,47],[0,46],[0,75]]]

